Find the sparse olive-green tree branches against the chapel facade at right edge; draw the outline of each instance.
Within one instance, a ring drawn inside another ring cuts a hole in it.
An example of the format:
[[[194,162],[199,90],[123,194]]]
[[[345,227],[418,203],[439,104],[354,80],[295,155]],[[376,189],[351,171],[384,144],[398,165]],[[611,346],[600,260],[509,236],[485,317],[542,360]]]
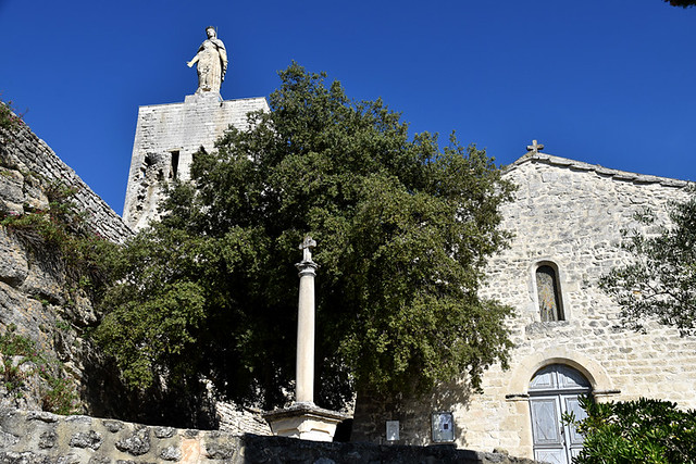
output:
[[[643,329],[647,319],[674,326],[682,334],[696,333],[696,193],[672,202],[670,225],[655,225],[654,212],[636,218],[657,227],[654,234],[627,231],[621,247],[633,262],[612,269],[601,287],[621,306],[622,321]]]

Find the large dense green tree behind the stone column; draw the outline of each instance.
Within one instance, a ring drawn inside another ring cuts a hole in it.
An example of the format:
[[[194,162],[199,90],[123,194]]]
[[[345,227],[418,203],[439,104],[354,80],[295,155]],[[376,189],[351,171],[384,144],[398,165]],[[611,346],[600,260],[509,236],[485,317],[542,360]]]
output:
[[[137,387],[212,383],[282,404],[295,377],[299,243],[318,242],[316,402],[419,391],[505,363],[510,309],[478,297],[507,242],[512,186],[452,137],[409,138],[398,113],[297,64],[271,111],[195,155],[190,183],[116,263],[97,338]]]

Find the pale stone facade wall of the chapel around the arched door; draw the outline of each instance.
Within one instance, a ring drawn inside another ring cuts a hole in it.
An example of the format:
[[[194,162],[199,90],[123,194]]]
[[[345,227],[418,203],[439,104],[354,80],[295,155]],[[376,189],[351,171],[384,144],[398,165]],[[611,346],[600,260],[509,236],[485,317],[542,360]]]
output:
[[[630,259],[618,244],[622,228],[637,226],[633,214],[649,206],[664,223],[668,201],[685,198],[686,183],[540,153],[505,176],[519,186],[502,211],[514,239],[490,260],[483,293],[515,310],[510,369],[493,366],[482,394],[457,383],[424,400],[359,397],[353,439],[383,441],[385,421],[399,419],[403,442],[425,444],[431,413],[451,411],[458,447],[532,457],[527,389],[550,364],[577,369],[600,401],[648,397],[696,407],[696,338],[657,324],[646,334],[621,328],[619,308],[598,287],[599,276]],[[535,271],[545,263],[558,268],[566,321],[540,321]]]

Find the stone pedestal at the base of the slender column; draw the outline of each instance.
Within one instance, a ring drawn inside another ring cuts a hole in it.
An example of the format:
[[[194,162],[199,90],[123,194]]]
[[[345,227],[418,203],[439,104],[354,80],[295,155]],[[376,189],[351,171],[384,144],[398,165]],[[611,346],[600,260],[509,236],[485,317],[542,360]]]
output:
[[[348,417],[313,403],[295,403],[263,415],[273,435],[313,441],[333,441],[336,426]]]

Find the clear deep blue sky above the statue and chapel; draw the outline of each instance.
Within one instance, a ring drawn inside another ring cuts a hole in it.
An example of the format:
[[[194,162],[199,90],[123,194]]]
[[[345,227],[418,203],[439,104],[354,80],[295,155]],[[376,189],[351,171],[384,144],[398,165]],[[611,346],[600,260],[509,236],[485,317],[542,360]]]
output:
[[[538,139],[696,180],[696,8],[661,0],[0,0],[0,98],[121,213],[138,106],[196,90],[209,24],[225,99],[268,96],[295,60],[501,164]]]

